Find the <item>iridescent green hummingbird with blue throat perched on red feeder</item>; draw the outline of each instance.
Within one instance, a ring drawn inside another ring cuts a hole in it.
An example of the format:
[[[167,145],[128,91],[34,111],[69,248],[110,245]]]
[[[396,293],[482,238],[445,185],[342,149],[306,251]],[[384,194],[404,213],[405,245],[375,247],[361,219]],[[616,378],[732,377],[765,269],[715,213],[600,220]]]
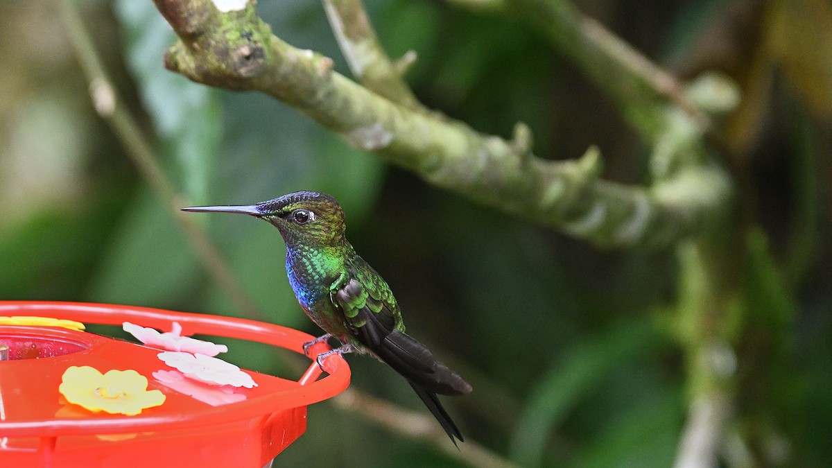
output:
[[[369,354],[407,379],[456,445],[463,441],[437,395],[463,395],[468,382],[437,361],[426,346],[404,332],[402,311],[390,287],[355,253],[344,236],[344,210],[334,197],[294,192],[255,205],[186,207],[185,212],[242,213],[270,222],[286,246],[286,274],[306,315],[326,333],[304,351],[335,338],[340,346],[316,361],[350,352]]]

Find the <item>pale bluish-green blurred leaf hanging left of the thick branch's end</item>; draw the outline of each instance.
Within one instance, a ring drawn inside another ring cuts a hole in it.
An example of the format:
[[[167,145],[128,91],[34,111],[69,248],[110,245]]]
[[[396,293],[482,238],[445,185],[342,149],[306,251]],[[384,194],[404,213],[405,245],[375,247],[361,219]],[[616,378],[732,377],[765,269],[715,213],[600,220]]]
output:
[[[187,197],[205,199],[222,137],[219,92],[161,66],[176,35],[152,2],[116,0],[115,6],[125,32],[127,64],[157,136],[177,163]]]

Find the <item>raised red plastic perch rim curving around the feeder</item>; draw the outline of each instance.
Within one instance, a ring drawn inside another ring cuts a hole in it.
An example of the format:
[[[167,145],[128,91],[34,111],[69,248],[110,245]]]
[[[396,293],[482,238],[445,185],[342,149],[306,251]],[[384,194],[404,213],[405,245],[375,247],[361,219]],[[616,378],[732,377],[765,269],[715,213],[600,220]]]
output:
[[[314,338],[303,331],[285,326],[242,318],[211,316],[191,312],[166,311],[151,307],[121,306],[61,301],[0,301],[0,316],[46,315],[83,323],[120,326],[132,321],[141,326],[170,330],[174,321],[182,326],[183,335],[211,335],[257,341],[279,346],[304,354],[303,345]],[[319,343],[326,351],[328,346]],[[313,356],[316,353],[311,353]],[[139,431],[166,431],[196,426],[221,424],[265,416],[275,411],[307,406],[339,394],[349,386],[350,371],[341,356],[334,355],[324,361],[329,374],[318,379],[322,371],[312,360],[310,367],[300,377],[300,386],[271,395],[255,396],[250,400],[230,405],[206,408],[199,413],[176,416],[112,416],[99,420],[52,421],[0,421],[0,436],[66,436],[81,434],[112,434]],[[233,417],[228,407],[233,406]]]

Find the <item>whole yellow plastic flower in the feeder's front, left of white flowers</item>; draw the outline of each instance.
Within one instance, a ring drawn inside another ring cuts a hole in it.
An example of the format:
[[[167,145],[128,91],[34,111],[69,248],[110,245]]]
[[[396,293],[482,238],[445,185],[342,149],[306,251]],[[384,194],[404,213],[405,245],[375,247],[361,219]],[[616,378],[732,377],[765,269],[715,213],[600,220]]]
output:
[[[107,371],[102,375],[90,366],[72,366],[64,371],[61,395],[89,411],[135,416],[145,408],[165,402],[165,394],[147,390],[147,378],[132,369]]]

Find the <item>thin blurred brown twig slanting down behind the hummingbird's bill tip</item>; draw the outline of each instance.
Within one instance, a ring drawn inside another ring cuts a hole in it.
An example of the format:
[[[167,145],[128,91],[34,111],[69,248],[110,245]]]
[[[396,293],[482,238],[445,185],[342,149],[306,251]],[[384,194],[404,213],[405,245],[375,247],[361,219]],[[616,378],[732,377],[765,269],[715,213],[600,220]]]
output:
[[[138,167],[141,177],[144,177],[182,231],[185,232],[188,241],[191,242],[191,245],[195,247],[199,254],[197,258],[202,262],[210,276],[230,296],[231,301],[240,308],[243,315],[251,319],[264,317],[255,306],[254,301],[249,299],[240,283],[236,281],[227,264],[222,260],[220,252],[211,244],[194,218],[183,216],[179,210],[191,203],[176,192],[165,172],[156,162],[148,138],[141,132],[138,122],[132,117],[116,89],[112,86],[112,81],[106,73],[101,57],[99,57],[97,49],[92,43],[92,37],[90,37],[87,27],[82,22],[81,13],[78,11],[75,0],[57,2],[57,7],[61,12],[64,24],[67,26],[67,32],[72,47],[77,54],[78,62],[87,77],[87,82],[90,83],[92,102],[98,115],[116,133],[126,149],[127,156]]]

